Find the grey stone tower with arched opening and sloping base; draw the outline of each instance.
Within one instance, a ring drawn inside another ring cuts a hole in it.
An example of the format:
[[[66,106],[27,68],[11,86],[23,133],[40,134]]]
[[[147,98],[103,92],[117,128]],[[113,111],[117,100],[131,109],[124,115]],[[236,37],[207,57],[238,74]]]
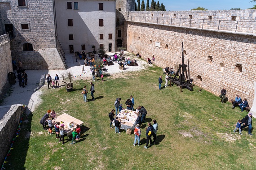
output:
[[[10,35],[12,58],[23,68],[65,69],[55,37],[53,0],[1,0],[0,25],[1,34]]]

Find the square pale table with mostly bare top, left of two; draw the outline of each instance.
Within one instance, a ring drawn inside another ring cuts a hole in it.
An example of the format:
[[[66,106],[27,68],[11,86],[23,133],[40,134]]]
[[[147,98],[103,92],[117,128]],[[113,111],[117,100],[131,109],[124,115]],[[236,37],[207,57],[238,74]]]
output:
[[[84,122],[82,122],[79,119],[76,119],[74,117],[72,117],[71,115],[68,115],[66,113],[63,113],[62,115],[59,115],[55,120],[56,122],[59,122],[60,124],[64,124],[64,129],[66,129],[64,132],[67,134],[67,136],[70,136],[73,132],[74,129],[76,129],[76,125],[74,127],[68,127],[70,122],[74,122],[74,124],[78,124],[79,126],[81,126]],[[62,123],[61,123],[62,122]]]

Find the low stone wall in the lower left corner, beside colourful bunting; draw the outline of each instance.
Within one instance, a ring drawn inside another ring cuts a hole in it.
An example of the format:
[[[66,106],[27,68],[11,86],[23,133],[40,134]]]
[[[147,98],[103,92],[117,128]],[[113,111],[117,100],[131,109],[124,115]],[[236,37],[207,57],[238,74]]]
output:
[[[2,165],[4,157],[10,149],[10,144],[13,140],[18,124],[20,123],[22,106],[19,104],[0,107],[10,107],[10,110],[6,115],[4,115],[4,118],[0,119],[0,164]]]

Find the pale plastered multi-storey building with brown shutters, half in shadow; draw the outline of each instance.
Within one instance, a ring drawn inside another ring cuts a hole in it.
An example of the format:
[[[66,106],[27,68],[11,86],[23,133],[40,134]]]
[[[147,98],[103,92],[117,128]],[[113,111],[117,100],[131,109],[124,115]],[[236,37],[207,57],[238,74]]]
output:
[[[55,0],[57,37],[66,54],[92,46],[115,52],[115,0]],[[102,20],[102,22],[100,21]]]

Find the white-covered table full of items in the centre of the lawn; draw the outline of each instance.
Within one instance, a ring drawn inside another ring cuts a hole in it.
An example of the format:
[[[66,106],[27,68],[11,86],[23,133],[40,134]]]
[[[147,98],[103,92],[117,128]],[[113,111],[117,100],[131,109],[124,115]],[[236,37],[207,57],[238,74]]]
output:
[[[127,129],[135,129],[136,126],[136,119],[137,119],[137,112],[128,110],[128,109],[123,109],[119,112],[117,117],[120,118],[121,121],[121,129],[124,129],[125,131]],[[113,125],[115,126],[115,123],[113,121]]]

